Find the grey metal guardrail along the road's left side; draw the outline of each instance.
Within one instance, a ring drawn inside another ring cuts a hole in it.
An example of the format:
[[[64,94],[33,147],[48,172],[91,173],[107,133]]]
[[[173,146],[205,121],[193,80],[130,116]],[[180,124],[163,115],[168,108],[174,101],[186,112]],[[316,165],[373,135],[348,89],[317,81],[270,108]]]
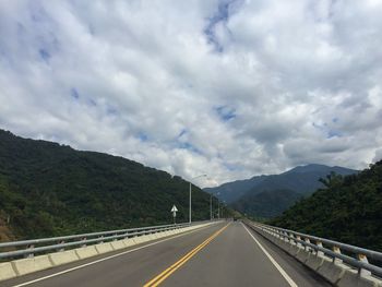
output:
[[[190,226],[186,224],[171,224],[159,226],[147,226],[140,228],[129,228],[119,230],[109,230],[103,232],[92,232],[82,235],[71,235],[51,238],[40,238],[32,240],[12,241],[0,243],[0,260],[14,259],[19,256],[32,258],[35,253],[41,253],[46,251],[63,251],[68,248],[85,247],[87,244],[103,243],[107,241],[118,240],[122,238],[132,238],[136,236],[150,235],[159,231],[172,230],[182,227]],[[19,250],[4,251],[3,249],[20,248]]]

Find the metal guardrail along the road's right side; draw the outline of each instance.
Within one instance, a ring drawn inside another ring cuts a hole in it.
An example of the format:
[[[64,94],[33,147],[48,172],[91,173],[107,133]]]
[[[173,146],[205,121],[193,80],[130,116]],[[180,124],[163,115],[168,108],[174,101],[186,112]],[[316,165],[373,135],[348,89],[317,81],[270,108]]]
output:
[[[333,262],[346,263],[349,267],[358,270],[361,276],[374,275],[382,278],[382,268],[368,261],[369,258],[373,261],[382,262],[382,252],[249,220],[246,220],[246,224],[259,228],[290,244],[298,246],[307,252],[319,256],[327,256],[332,259]],[[312,241],[314,243],[312,243]],[[342,251],[346,251],[346,254],[343,254]]]

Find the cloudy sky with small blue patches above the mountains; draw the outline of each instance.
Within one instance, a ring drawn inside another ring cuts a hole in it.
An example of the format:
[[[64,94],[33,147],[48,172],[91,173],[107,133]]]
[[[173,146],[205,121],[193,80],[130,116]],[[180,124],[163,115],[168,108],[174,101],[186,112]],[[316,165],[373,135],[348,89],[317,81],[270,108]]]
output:
[[[382,0],[0,1],[0,129],[214,186],[382,158]]]

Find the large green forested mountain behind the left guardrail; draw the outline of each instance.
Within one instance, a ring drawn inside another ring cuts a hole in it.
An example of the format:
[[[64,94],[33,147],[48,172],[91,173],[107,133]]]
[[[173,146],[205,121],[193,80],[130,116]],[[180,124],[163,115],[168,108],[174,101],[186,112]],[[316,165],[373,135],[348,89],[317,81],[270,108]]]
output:
[[[193,220],[208,219],[210,194],[192,191]],[[172,204],[187,222],[188,200],[180,177],[0,130],[0,223],[17,238],[169,224]]]

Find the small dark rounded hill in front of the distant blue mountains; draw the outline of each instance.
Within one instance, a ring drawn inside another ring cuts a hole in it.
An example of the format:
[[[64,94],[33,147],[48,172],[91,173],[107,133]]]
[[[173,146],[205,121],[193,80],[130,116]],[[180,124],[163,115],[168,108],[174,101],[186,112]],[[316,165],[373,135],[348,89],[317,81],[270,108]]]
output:
[[[301,193],[293,190],[266,190],[246,194],[231,206],[247,215],[270,218],[282,214],[301,198]]]

